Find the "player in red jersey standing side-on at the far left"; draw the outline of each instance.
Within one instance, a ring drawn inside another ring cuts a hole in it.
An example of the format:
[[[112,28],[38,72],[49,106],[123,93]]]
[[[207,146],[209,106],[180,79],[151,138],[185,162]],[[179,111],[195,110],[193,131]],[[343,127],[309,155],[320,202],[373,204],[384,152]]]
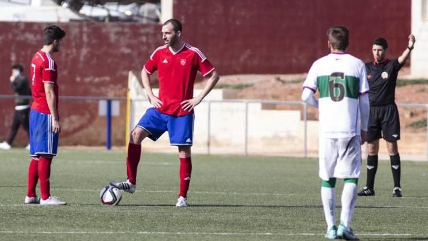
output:
[[[28,190],[24,204],[65,205],[50,193],[52,159],[61,132],[58,116],[58,69],[52,54],[59,51],[65,31],[52,25],[43,30],[44,46],[31,60],[30,85],[33,104],[30,111],[30,156]],[[41,199],[36,195],[40,181]]]

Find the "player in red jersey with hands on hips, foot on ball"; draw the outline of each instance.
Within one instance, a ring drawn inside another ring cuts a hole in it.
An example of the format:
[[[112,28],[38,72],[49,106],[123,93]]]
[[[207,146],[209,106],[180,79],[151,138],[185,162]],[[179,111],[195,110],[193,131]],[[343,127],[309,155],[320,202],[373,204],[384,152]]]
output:
[[[213,65],[197,48],[185,43],[180,37],[181,23],[169,19],[162,25],[165,45],[157,48],[143,66],[143,86],[153,108],[149,108],[131,131],[126,157],[127,180],[111,181],[127,192],[135,192],[137,167],[140,162],[141,142],[148,137],[156,141],[168,131],[170,144],[178,146],[180,158],[180,192],[177,207],[187,206],[187,191],[192,172],[190,148],[193,144],[194,107],[210,93],[219,76]],[[150,86],[150,74],[158,71],[159,96]],[[200,94],[193,97],[196,73],[199,71],[207,83]]]

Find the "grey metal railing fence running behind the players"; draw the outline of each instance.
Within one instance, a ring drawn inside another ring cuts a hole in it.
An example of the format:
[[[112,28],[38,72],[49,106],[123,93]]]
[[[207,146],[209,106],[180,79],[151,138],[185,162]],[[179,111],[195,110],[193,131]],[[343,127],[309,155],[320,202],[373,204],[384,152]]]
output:
[[[17,96],[15,95],[0,95],[0,99],[15,99],[17,98]],[[18,98],[31,98],[31,96],[20,96]],[[111,119],[112,119],[112,114],[111,114],[111,103],[112,101],[126,101],[125,97],[108,97],[108,96],[60,96],[60,101],[106,101],[107,103],[107,114],[106,114],[106,148],[110,149],[111,148],[111,130],[112,130],[112,125],[111,125]],[[131,103],[135,102],[135,101],[144,101],[147,102],[147,99],[143,99],[143,98],[135,98],[135,99],[131,99],[130,100]],[[244,151],[243,154],[248,155],[249,154],[249,150],[248,150],[248,142],[249,142],[249,105],[250,104],[269,104],[269,105],[285,105],[285,106],[298,106],[300,108],[302,108],[303,110],[303,153],[302,155],[304,157],[306,157],[308,155],[308,148],[307,148],[307,143],[308,143],[308,133],[307,133],[307,105],[306,103],[302,102],[302,101],[267,101],[267,100],[235,100],[235,99],[228,99],[228,100],[206,100],[203,101],[203,103],[205,103],[206,105],[208,105],[208,111],[207,111],[207,140],[206,140],[206,149],[207,149],[207,153],[211,154],[211,148],[212,148],[212,140],[211,140],[211,136],[212,136],[212,123],[211,123],[211,114],[212,114],[212,105],[214,103],[238,103],[238,104],[242,104],[245,106],[244,110],[245,110],[245,114],[244,114],[244,119],[242,120],[244,123]],[[131,107],[133,105],[131,104]],[[402,108],[422,108],[427,112],[427,119],[428,119],[428,104],[410,104],[410,103],[399,103],[397,104],[398,107],[402,107]],[[131,113],[133,113],[135,111],[132,110],[131,108]],[[132,118],[131,118],[132,119]],[[132,121],[130,123],[127,123],[128,125],[134,125],[135,123],[132,123]],[[425,144],[425,151],[426,151],[426,159],[428,160],[428,123],[426,124],[426,144]]]

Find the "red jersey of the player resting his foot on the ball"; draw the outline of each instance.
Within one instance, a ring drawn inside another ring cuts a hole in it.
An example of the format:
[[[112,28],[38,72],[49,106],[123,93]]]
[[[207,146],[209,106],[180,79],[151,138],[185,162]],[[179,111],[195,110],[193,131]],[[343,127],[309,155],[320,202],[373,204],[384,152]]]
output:
[[[175,54],[166,45],[157,48],[143,69],[148,74],[158,71],[159,99],[162,101],[158,110],[175,116],[193,113],[193,110],[182,110],[180,103],[193,98],[197,71],[203,76],[214,71],[213,65],[204,54],[189,44],[184,44]]]

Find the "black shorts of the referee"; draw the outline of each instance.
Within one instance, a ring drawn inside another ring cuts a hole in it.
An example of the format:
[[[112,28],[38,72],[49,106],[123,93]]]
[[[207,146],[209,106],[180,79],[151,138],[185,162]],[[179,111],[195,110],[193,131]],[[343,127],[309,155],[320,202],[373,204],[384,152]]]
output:
[[[367,141],[382,137],[390,142],[400,140],[400,116],[395,103],[370,107]]]

